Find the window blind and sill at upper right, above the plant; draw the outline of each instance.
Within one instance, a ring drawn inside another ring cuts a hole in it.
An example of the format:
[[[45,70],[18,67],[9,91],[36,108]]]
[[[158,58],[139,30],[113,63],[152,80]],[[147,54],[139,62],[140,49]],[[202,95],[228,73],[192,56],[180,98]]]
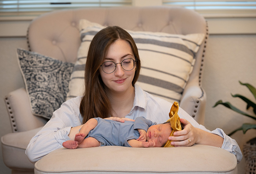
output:
[[[206,16],[256,16],[256,0],[163,0],[163,5],[182,6]]]

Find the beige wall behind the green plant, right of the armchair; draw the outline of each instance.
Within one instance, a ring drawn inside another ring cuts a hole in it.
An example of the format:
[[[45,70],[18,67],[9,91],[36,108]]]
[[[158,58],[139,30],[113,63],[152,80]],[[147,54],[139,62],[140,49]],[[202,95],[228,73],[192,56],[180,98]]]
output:
[[[233,98],[231,93],[244,95],[254,102],[256,100],[239,81],[256,87],[256,35],[210,35],[202,85],[207,95],[205,126],[209,130],[219,127],[228,134],[239,128],[242,123],[256,123],[224,106],[212,108],[222,99],[223,102],[229,101],[246,112],[244,102]],[[252,109],[248,113],[252,113]],[[246,141],[256,137],[256,130],[250,130],[245,135],[239,131],[231,137],[242,149]],[[244,167],[243,158],[238,164],[239,174],[244,174]]]

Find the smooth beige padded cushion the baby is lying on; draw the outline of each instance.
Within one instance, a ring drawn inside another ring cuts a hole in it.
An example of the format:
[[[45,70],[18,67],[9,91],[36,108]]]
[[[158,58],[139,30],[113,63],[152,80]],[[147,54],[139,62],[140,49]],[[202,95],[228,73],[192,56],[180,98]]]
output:
[[[233,154],[221,148],[205,145],[174,148],[117,146],[60,148],[35,163],[35,174],[234,174],[236,172],[237,160]]]

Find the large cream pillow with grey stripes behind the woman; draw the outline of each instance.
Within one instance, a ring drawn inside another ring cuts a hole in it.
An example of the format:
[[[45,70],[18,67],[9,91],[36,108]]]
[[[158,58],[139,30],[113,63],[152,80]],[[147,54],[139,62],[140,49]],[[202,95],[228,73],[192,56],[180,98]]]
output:
[[[85,19],[80,21],[82,42],[77,54],[78,60],[71,74],[67,99],[83,94],[87,50],[94,35],[103,28]],[[128,33],[134,38],[141,60],[140,77],[136,83],[154,96],[169,102],[180,102],[193,69],[194,55],[204,40],[204,34],[177,35],[134,31]]]

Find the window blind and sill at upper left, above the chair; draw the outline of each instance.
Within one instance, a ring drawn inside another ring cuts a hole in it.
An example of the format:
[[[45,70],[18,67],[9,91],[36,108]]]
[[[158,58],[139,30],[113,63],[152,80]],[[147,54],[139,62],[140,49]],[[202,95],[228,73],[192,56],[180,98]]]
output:
[[[59,9],[129,5],[132,0],[0,0],[0,16],[35,16]]]

